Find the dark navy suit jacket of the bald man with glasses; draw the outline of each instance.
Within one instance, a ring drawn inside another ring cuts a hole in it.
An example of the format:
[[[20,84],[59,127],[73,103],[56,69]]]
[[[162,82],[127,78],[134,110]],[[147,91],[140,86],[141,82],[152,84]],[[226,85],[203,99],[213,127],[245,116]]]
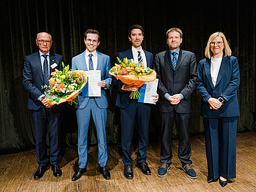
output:
[[[58,69],[62,71],[62,55],[50,52],[50,74]],[[57,65],[54,67],[54,63]],[[41,88],[43,83],[43,70],[40,60],[39,51],[32,53],[31,55],[25,56],[24,69],[23,69],[23,79],[22,84],[29,92],[29,100],[27,103],[27,109],[37,110],[41,107],[41,101],[37,100],[40,95],[43,94],[43,89]]]

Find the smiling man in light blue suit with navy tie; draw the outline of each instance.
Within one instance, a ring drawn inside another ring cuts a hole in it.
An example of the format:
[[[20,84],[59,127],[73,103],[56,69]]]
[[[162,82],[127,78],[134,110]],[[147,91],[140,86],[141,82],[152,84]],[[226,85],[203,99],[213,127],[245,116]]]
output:
[[[81,92],[78,95],[78,104],[76,104],[76,118],[78,125],[78,151],[79,168],[74,173],[72,181],[76,181],[86,172],[88,159],[87,138],[90,115],[93,116],[95,128],[97,130],[98,158],[100,172],[105,179],[110,179],[110,173],[107,164],[107,93],[106,90],[112,83],[112,77],[109,75],[110,57],[99,53],[96,48],[100,44],[100,33],[95,29],[88,29],[84,33],[84,43],[86,50],[72,58],[72,69],[76,70],[100,70],[101,81],[97,83],[101,87],[101,97],[83,97]],[[96,118],[97,117],[97,118]]]

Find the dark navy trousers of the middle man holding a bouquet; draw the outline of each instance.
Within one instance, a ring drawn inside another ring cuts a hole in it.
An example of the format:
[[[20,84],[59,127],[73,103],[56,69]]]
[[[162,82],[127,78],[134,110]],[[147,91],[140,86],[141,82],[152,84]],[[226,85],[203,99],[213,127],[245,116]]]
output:
[[[121,146],[123,151],[123,164],[133,164],[130,144],[133,139],[133,128],[137,114],[137,127],[139,130],[139,151],[137,153],[137,163],[147,160],[147,144],[149,142],[149,119],[151,106],[149,104],[137,103],[132,100],[125,109],[120,109],[121,113]]]

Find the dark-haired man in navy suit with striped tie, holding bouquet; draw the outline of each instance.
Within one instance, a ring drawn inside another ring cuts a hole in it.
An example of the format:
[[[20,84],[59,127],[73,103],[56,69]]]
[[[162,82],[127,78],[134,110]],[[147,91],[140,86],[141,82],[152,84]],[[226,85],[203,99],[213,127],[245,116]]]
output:
[[[141,46],[144,38],[144,29],[140,25],[133,25],[128,31],[128,39],[133,46],[129,50],[119,53],[120,60],[123,58],[133,59],[135,63],[144,62],[144,67],[153,69],[154,57],[152,53],[147,52]],[[117,61],[116,61],[117,62]],[[118,63],[118,62],[117,62]],[[133,179],[133,159],[131,158],[130,144],[133,139],[133,126],[137,113],[137,125],[139,129],[139,151],[137,153],[137,166],[140,167],[142,173],[151,174],[146,163],[147,144],[149,140],[149,118],[151,114],[151,104],[138,103],[137,100],[129,98],[131,91],[138,88],[135,85],[126,85],[120,80],[113,77],[113,83],[119,92],[116,97],[116,106],[120,108],[121,113],[121,146],[123,151],[124,176],[127,179]],[[154,100],[157,102],[158,95]]]

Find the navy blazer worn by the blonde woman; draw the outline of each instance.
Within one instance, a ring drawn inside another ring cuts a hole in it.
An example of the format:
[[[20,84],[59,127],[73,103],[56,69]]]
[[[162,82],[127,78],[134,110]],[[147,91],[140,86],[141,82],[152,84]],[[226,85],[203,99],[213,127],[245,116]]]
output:
[[[206,118],[240,116],[237,97],[240,72],[237,58],[233,56],[222,57],[215,86],[213,86],[210,74],[210,64],[210,59],[205,58],[199,62],[197,69],[196,88],[201,95],[201,115]],[[207,102],[210,97],[218,98],[221,96],[224,98],[222,107],[217,110],[210,109]]]

